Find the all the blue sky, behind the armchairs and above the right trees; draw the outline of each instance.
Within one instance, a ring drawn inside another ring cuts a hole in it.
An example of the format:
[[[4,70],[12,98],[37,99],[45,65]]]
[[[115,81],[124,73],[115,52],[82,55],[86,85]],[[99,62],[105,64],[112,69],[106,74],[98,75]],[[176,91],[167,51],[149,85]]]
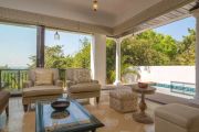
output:
[[[158,33],[171,35],[181,41],[182,36],[188,34],[187,29],[195,29],[195,18],[188,18],[175,23],[155,29]],[[60,41],[54,40],[55,31],[46,30],[45,45],[64,45],[65,55],[72,55],[81,48],[80,40],[91,35],[77,34],[71,32],[59,32]],[[0,66],[9,65],[11,67],[25,67],[30,63],[29,57],[36,53],[36,29],[35,26],[15,26],[0,23]]]

